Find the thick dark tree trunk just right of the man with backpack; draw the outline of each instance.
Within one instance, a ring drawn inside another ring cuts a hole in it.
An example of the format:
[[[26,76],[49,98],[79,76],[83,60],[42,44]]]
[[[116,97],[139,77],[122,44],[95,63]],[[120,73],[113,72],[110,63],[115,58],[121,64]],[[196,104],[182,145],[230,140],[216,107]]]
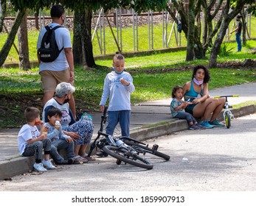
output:
[[[91,10],[75,10],[73,52],[76,65],[93,67],[95,64],[91,43]]]

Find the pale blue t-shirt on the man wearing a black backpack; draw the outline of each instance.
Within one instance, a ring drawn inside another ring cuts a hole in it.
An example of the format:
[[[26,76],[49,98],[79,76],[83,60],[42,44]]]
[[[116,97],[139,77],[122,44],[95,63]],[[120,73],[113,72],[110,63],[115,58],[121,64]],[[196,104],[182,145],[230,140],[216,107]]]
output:
[[[52,23],[49,24],[50,27],[60,26],[60,24]],[[41,41],[44,37],[44,33],[46,32],[46,29],[41,29],[41,32],[38,35],[38,43],[36,46],[36,49],[39,49],[41,47]],[[58,28],[55,30],[55,40],[58,45],[58,48],[63,50],[60,52],[60,55],[57,57],[56,60],[54,60],[52,63],[40,63],[39,65],[39,72],[44,70],[50,70],[50,71],[63,71],[66,68],[69,68],[69,63],[66,60],[65,48],[72,48],[71,44],[71,38],[69,29],[66,29],[64,27]]]

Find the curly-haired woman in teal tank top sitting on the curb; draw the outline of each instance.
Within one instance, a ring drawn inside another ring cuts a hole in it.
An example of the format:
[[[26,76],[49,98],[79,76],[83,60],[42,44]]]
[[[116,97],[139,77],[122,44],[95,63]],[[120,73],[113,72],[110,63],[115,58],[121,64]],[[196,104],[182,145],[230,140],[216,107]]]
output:
[[[195,118],[201,118],[201,126],[210,129],[212,127],[224,127],[216,118],[224,108],[225,99],[210,98],[208,93],[208,82],[210,72],[203,65],[194,68],[192,80],[183,86],[184,100],[192,102],[185,111]],[[210,121],[208,121],[210,120]]]

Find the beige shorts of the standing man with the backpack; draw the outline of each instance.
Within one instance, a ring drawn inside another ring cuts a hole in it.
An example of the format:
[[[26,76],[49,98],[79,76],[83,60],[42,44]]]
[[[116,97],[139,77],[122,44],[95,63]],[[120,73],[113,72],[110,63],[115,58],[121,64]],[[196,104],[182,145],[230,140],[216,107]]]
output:
[[[41,87],[45,92],[55,92],[56,86],[60,82],[69,82],[70,80],[70,68],[63,71],[49,71],[44,70],[39,73],[41,75]],[[73,82],[69,82],[74,85]]]

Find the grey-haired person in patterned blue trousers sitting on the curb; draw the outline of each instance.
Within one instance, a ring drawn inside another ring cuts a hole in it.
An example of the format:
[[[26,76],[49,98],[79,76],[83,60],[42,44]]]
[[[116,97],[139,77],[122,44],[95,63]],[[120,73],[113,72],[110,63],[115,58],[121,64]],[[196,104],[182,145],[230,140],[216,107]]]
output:
[[[86,148],[89,146],[91,141],[94,125],[91,121],[85,119],[75,121],[68,103],[72,98],[72,93],[74,92],[75,88],[70,83],[61,82],[58,84],[55,89],[55,96],[53,96],[52,99],[49,99],[49,101],[44,105],[43,121],[49,121],[46,113],[50,108],[56,107],[60,109],[62,113],[60,124],[63,128],[63,132],[70,136],[75,143],[75,160],[86,163],[88,161],[95,160],[93,157],[86,156]]]

